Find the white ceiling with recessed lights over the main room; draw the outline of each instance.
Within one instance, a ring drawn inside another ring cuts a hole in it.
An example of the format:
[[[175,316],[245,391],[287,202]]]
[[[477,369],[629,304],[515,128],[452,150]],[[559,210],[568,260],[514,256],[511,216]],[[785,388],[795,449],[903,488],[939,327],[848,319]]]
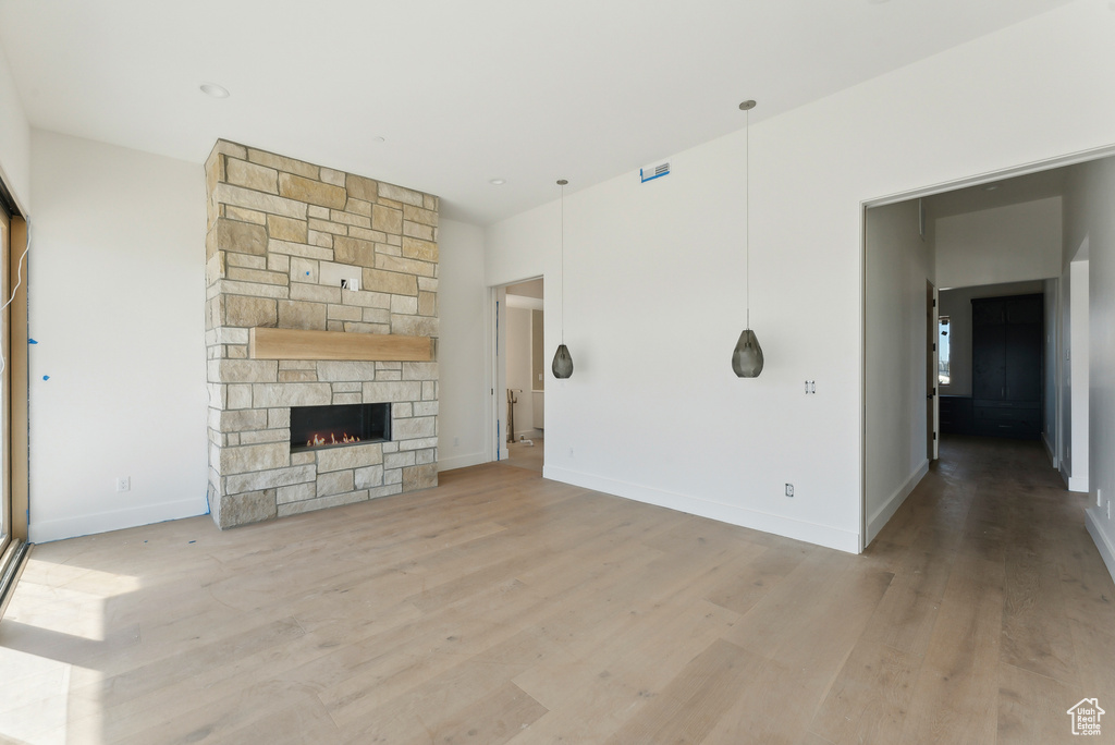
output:
[[[1068,1],[0,0],[0,45],[32,126],[224,137],[487,224]]]

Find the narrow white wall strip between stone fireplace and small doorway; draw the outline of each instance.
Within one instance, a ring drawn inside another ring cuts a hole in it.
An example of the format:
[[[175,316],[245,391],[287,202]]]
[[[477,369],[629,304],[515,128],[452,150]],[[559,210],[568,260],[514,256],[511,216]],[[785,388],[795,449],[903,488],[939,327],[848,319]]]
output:
[[[488,414],[487,316],[484,284],[484,232],[468,223],[443,219],[438,226],[437,356],[438,471],[484,463]]]

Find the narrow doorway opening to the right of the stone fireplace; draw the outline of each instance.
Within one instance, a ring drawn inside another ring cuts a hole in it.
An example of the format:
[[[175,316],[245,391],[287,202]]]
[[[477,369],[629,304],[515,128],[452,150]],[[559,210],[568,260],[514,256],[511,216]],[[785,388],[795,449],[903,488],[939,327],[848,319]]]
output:
[[[542,278],[496,289],[496,443],[501,462],[542,473],[546,347]]]

